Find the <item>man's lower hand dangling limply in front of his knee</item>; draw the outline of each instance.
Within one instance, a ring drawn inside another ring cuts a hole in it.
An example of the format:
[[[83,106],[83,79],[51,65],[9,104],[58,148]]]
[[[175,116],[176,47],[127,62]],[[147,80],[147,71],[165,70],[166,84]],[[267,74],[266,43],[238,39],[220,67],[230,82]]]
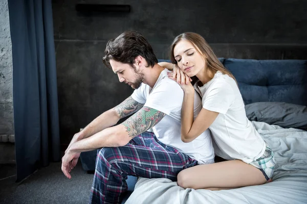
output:
[[[70,148],[67,148],[65,155],[62,157],[62,171],[68,179],[71,179],[72,176],[70,172],[77,165],[78,159],[81,152],[72,152]]]

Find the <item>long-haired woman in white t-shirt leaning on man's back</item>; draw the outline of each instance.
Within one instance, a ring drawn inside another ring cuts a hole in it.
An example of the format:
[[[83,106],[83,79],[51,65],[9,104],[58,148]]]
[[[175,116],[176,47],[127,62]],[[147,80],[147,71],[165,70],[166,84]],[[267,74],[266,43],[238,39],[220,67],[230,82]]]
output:
[[[178,174],[178,185],[222,190],[272,181],[276,164],[273,151],[246,117],[235,78],[205,39],[195,33],[177,36],[171,45],[171,62],[179,69],[170,72],[169,78],[184,90],[182,141],[190,142],[209,128],[215,154],[229,160],[185,169]],[[198,81],[192,86],[190,77],[194,76]],[[195,90],[202,95],[203,109],[193,121]]]

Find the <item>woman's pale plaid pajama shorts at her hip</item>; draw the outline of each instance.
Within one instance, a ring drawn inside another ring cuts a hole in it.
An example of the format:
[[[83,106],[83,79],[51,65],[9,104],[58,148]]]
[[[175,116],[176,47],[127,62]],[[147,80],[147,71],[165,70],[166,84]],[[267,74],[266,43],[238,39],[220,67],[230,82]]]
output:
[[[250,164],[258,168],[266,177],[266,180],[270,180],[273,176],[274,167],[276,165],[276,160],[274,158],[274,153],[270,148],[269,144],[266,143],[265,153],[257,160],[252,161]]]

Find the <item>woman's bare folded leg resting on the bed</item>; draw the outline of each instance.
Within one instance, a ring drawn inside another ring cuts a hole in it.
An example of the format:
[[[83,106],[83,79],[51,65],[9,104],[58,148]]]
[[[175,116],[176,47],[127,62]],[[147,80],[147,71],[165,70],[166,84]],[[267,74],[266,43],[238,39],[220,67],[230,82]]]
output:
[[[256,167],[241,160],[193,166],[179,172],[178,185],[183,188],[222,190],[267,182]]]

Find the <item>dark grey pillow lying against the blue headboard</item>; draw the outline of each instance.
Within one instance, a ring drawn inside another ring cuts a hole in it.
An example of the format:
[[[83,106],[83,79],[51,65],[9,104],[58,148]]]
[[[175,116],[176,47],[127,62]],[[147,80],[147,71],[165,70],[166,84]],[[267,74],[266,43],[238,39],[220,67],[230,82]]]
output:
[[[307,130],[307,107],[283,102],[257,102],[245,106],[249,120],[284,128]]]

